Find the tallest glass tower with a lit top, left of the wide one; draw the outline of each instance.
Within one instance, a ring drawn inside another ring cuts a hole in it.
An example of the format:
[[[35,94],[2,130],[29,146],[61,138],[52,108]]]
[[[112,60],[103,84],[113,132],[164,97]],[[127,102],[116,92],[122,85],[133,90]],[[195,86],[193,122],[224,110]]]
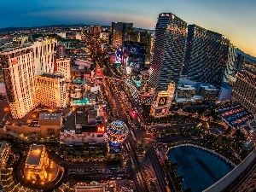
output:
[[[160,14],[155,26],[154,55],[148,85],[166,90],[183,68],[187,23],[176,15]]]

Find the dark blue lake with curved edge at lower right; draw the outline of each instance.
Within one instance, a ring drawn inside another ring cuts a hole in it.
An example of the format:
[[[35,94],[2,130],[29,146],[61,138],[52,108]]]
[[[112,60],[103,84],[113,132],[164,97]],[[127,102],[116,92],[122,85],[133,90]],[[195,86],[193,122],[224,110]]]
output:
[[[172,163],[177,163],[177,175],[183,176],[183,190],[201,192],[234,167],[216,154],[193,146],[180,146],[168,152]]]

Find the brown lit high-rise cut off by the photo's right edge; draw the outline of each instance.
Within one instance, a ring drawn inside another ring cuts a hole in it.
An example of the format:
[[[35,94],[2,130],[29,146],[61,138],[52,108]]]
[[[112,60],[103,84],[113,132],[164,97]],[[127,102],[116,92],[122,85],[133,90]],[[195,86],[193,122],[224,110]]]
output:
[[[256,67],[248,65],[236,73],[232,95],[237,102],[252,113],[256,113]]]

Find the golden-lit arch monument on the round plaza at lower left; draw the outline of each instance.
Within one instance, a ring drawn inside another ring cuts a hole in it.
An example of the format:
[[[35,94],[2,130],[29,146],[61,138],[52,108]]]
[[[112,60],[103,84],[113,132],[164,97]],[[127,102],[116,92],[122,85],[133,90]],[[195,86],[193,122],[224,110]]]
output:
[[[49,158],[44,145],[32,144],[26,157],[25,176],[27,180],[44,180],[45,169],[49,166]]]

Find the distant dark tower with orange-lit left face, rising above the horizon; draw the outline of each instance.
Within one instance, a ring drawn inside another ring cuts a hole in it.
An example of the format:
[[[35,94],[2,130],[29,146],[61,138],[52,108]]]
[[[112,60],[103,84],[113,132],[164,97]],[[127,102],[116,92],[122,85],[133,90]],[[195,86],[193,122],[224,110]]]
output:
[[[121,48],[127,40],[127,32],[132,29],[133,23],[112,22],[111,44],[115,48]]]

